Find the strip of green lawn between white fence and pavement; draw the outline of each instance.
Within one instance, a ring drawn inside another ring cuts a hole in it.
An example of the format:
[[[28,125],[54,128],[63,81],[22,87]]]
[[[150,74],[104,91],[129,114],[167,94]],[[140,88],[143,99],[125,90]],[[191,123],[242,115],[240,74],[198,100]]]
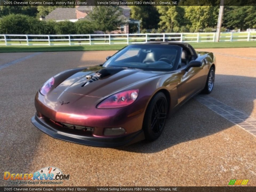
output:
[[[233,48],[233,47],[256,47],[256,41],[237,41],[237,42],[199,42],[190,43],[194,48]],[[64,46],[0,46],[0,53],[12,52],[45,52],[45,51],[102,51],[119,50],[125,47],[120,45],[64,45]]]

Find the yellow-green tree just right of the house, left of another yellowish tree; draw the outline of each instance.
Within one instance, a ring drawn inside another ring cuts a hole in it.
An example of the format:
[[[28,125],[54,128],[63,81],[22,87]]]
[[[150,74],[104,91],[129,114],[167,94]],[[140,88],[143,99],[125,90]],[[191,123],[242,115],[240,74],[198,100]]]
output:
[[[171,30],[185,24],[184,8],[181,6],[157,6],[160,14],[159,26],[162,29]]]

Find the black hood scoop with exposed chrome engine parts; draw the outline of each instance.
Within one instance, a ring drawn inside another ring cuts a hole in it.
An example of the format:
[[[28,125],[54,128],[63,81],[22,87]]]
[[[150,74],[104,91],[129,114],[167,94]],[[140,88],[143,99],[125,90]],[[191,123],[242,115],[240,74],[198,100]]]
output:
[[[94,75],[86,75],[86,79],[89,79],[89,81],[87,81],[85,84],[83,84],[82,87],[84,87],[94,81],[97,81],[99,79],[102,79],[104,77],[114,75],[124,69],[125,68],[123,68],[123,67],[109,67],[109,68],[104,68],[104,69],[99,70]]]

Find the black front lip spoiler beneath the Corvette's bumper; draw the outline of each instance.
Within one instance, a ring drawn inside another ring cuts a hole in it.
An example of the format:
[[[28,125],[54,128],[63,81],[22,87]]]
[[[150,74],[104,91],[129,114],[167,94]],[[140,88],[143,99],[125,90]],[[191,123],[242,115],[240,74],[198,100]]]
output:
[[[72,129],[65,129],[65,131],[63,131],[62,127],[54,125],[53,122],[46,118],[38,118],[37,115],[31,118],[31,122],[39,130],[53,138],[95,147],[130,145],[145,139],[143,130],[122,137],[94,137],[91,134],[79,134],[76,130]]]

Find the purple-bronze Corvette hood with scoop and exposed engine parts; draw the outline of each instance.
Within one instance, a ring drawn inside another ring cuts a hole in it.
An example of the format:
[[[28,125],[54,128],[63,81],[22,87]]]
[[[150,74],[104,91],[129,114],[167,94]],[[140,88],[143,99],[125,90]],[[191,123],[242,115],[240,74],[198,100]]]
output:
[[[93,71],[94,69],[98,70]],[[99,78],[98,73],[102,74]],[[79,95],[105,97],[126,86],[160,73],[162,72],[123,67],[89,67],[71,75],[55,89]]]

